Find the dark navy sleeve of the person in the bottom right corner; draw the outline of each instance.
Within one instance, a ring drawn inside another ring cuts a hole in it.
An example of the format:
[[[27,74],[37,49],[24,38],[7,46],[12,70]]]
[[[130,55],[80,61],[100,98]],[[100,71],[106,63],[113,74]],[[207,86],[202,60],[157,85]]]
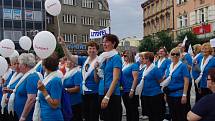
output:
[[[210,103],[208,103],[208,101],[212,100],[208,100],[208,96],[203,97],[194,105],[191,111],[201,117],[206,116],[208,113],[210,113]]]

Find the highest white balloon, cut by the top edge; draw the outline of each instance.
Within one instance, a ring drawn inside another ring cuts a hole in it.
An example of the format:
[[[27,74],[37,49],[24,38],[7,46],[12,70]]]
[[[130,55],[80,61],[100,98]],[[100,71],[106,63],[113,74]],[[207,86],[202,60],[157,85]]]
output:
[[[61,11],[61,4],[59,0],[46,0],[45,1],[45,9],[46,11],[53,15],[57,16]]]

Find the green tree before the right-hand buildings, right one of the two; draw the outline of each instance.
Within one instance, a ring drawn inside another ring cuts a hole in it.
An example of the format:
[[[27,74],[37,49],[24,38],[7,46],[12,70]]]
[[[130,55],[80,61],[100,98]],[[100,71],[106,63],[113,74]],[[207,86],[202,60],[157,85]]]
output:
[[[161,31],[161,32],[157,33],[157,37],[159,40],[156,45],[157,49],[160,47],[165,47],[168,51],[170,51],[172,49],[173,39],[167,32]]]

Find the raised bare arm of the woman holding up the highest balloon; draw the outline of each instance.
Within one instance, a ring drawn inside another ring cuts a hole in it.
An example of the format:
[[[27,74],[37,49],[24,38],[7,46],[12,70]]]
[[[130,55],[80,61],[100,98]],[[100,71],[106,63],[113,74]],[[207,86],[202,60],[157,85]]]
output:
[[[77,55],[72,55],[69,50],[66,47],[65,41],[63,39],[63,37],[59,36],[58,37],[58,43],[61,45],[61,47],[63,48],[63,52],[65,54],[65,56],[71,60],[74,63],[78,62],[78,56]]]

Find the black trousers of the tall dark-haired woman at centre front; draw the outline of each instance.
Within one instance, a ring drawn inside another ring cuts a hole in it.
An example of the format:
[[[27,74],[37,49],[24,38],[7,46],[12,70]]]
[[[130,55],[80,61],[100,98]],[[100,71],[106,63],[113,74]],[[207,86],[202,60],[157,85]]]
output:
[[[102,100],[101,97],[100,100]],[[107,108],[102,110],[104,121],[121,121],[122,119],[122,106],[121,97],[118,95],[112,95],[108,102]]]

